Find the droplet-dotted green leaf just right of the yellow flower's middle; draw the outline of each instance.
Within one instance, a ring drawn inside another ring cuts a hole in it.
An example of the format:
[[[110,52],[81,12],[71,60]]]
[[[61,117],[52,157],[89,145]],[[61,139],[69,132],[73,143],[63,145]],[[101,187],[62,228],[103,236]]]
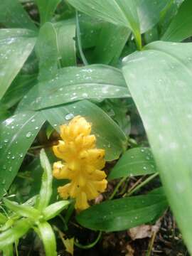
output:
[[[127,150],[110,172],[109,179],[154,174],[156,165],[149,148]]]

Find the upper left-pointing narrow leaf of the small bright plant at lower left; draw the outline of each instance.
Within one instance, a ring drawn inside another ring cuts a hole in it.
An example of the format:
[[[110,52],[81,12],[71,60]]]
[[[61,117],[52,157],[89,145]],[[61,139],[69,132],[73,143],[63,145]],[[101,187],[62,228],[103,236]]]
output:
[[[19,205],[18,203],[6,198],[4,198],[3,201],[7,208],[14,211],[16,214],[21,215],[21,217],[26,217],[34,221],[38,220],[40,217],[40,212],[31,206]]]

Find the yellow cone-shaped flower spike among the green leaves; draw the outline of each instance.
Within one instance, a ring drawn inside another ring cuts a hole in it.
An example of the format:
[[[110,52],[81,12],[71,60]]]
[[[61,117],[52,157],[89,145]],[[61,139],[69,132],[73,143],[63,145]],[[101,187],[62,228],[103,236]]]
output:
[[[53,146],[55,156],[63,161],[53,164],[53,176],[67,178],[70,183],[58,188],[62,198],[75,198],[75,208],[85,210],[89,200],[97,198],[107,187],[105,150],[95,146],[91,124],[84,117],[74,117],[68,125],[60,126],[60,140]]]

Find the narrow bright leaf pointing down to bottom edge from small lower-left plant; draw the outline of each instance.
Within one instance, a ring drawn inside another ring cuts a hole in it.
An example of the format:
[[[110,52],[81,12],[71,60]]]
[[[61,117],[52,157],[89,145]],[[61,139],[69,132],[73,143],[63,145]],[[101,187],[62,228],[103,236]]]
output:
[[[46,256],[57,256],[55,234],[50,224],[47,222],[39,223],[38,230],[43,241]]]

